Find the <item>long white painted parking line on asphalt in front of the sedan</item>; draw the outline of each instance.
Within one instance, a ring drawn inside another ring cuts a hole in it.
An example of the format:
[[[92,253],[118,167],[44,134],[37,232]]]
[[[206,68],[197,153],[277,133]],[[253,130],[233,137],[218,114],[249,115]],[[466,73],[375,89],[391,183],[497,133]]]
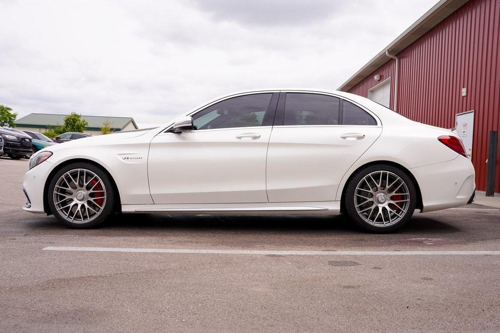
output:
[[[225,254],[225,255],[278,255],[278,256],[477,256],[477,255],[500,256],[500,251],[275,251],[275,250],[92,248],[92,247],[77,247],[77,246],[49,246],[43,248],[43,250]]]

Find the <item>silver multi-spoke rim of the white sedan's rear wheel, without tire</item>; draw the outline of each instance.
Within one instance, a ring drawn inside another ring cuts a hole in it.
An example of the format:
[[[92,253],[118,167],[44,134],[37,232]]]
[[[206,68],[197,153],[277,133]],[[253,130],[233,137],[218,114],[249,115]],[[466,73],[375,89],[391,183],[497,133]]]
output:
[[[399,222],[408,211],[409,190],[393,172],[380,170],[364,176],[354,191],[354,207],[364,222],[387,227]]]

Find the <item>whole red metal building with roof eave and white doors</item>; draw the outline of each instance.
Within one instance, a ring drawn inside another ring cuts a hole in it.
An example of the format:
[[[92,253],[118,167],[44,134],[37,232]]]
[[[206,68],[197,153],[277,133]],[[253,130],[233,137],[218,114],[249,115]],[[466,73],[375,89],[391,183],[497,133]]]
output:
[[[475,167],[477,190],[484,191],[488,133],[500,131],[499,37],[500,0],[441,0],[338,90],[415,121],[456,126]]]

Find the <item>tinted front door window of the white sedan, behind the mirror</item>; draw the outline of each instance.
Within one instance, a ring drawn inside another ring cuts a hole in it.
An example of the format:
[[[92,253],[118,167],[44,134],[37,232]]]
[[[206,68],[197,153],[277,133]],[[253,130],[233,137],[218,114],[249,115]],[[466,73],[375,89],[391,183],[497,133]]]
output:
[[[262,126],[272,93],[233,97],[192,116],[195,129]]]

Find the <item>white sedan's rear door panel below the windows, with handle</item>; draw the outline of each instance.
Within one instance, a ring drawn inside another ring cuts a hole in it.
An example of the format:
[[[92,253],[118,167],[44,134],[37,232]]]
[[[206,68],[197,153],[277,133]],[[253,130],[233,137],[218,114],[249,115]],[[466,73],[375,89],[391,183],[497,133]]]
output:
[[[275,126],[267,151],[269,202],[334,201],[343,175],[378,138],[375,126]]]

